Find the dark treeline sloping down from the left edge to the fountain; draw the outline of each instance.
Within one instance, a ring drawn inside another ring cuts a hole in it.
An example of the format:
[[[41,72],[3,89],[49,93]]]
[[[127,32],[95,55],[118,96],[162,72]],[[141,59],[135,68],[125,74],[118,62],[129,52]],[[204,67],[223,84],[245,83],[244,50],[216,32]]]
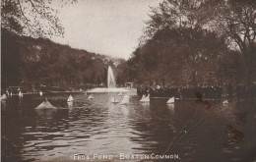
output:
[[[111,66],[123,83],[124,60],[86,50],[73,49],[44,38],[18,36],[2,30],[1,85],[25,87],[106,85],[107,67]],[[120,73],[120,75],[118,75]]]

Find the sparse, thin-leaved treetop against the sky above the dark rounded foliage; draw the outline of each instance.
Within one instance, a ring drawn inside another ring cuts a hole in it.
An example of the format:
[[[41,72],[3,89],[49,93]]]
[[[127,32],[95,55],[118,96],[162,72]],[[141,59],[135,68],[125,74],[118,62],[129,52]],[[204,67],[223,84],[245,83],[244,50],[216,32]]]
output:
[[[199,25],[198,9],[204,0],[163,0],[157,8],[151,8],[150,20],[146,22],[145,33],[141,43],[163,28],[195,28]]]

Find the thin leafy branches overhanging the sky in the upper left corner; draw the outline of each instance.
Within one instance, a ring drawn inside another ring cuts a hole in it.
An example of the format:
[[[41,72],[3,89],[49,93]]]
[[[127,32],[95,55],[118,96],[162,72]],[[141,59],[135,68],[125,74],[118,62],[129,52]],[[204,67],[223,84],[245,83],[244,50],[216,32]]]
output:
[[[63,4],[77,0],[62,0]],[[52,0],[2,0],[1,28],[19,35],[40,37],[63,36],[64,28],[57,17],[57,10],[50,7]]]

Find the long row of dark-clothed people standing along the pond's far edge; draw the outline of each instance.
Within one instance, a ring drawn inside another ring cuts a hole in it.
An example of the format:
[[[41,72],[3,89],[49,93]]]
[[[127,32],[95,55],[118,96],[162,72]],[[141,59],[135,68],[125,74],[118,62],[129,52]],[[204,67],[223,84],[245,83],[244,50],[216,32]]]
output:
[[[226,83],[224,85],[202,85],[202,86],[166,86],[166,85],[155,85],[155,86],[139,86],[137,88],[137,94],[148,95],[151,97],[175,97],[175,98],[208,98],[208,99],[221,99],[223,92],[225,92],[228,98],[234,96],[236,93],[237,98],[246,98],[252,88],[247,87],[244,84],[237,84],[234,91],[232,83]]]

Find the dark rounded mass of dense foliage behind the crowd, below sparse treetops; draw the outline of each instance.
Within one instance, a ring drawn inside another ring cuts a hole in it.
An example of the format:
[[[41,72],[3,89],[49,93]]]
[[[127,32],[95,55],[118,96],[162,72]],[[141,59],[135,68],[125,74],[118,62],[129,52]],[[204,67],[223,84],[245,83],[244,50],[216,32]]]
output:
[[[180,35],[182,33],[182,36]],[[242,80],[244,63],[239,53],[228,51],[224,38],[198,28],[164,28],[128,60],[130,76],[139,83],[172,85],[213,84]],[[232,59],[225,55],[233,55]]]

